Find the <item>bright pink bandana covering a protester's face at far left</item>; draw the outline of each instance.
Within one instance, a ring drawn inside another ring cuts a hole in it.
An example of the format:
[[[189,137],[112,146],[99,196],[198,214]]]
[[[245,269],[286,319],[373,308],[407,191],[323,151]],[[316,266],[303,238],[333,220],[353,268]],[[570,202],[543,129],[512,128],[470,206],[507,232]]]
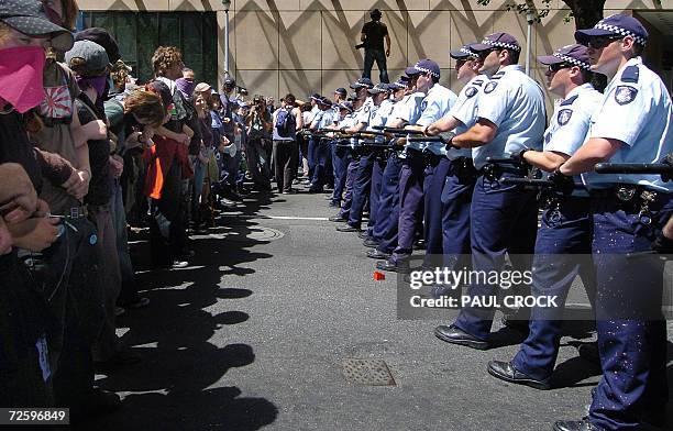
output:
[[[45,97],[44,62],[40,46],[0,49],[0,104],[10,103],[19,113],[38,106]]]

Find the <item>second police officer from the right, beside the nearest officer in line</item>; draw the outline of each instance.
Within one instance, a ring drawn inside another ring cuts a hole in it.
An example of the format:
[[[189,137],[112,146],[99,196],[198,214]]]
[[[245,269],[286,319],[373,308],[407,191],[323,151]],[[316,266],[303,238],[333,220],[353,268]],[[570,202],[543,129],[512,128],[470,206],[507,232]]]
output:
[[[563,46],[538,59],[548,66],[549,91],[563,101],[556,106],[544,132],[543,151],[527,148],[520,156],[530,165],[553,173],[584,143],[589,120],[603,95],[589,84],[586,46]],[[555,296],[559,307],[533,308],[529,335],[515,358],[488,364],[493,376],[539,389],[550,388],[561,341],[563,303],[577,275],[584,281],[589,301],[593,302],[594,296],[593,262],[587,257],[592,253],[589,197],[586,190],[573,189],[574,180],[564,184],[565,190],[544,189],[541,194],[544,212],[536,241],[532,276],[532,294]]]

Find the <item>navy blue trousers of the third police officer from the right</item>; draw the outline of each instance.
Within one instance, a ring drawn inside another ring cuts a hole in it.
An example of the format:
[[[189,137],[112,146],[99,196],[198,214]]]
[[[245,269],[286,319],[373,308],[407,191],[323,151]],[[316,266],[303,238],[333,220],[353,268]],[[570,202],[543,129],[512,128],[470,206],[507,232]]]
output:
[[[526,190],[522,186],[492,181],[483,175],[477,178],[470,211],[473,270],[499,273],[505,267],[506,254],[509,254],[515,269],[530,270],[537,231],[536,191]],[[475,283],[470,287],[468,295],[492,297],[498,292],[497,285]],[[455,325],[486,340],[494,313],[493,308],[463,308]]]

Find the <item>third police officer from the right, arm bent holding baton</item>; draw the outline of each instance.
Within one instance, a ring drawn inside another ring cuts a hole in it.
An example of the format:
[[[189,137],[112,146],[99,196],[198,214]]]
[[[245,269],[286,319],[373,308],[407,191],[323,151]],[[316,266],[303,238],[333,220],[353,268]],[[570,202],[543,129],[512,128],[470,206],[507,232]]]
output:
[[[453,139],[455,146],[474,148],[473,161],[479,170],[470,213],[472,266],[484,274],[500,272],[505,254],[509,253],[515,266],[525,269],[530,262],[517,254],[530,254],[534,247],[536,194],[484,175],[484,167],[489,156],[507,158],[523,148],[541,148],[545,129],[544,97],[540,86],[517,64],[521,47],[510,34],[494,33],[470,47],[484,53],[481,71],[493,75],[479,96],[477,123]],[[473,298],[497,294],[497,286],[478,281],[471,286]],[[454,324],[438,327],[434,334],[449,343],[487,349],[494,312],[494,309],[463,308]]]

